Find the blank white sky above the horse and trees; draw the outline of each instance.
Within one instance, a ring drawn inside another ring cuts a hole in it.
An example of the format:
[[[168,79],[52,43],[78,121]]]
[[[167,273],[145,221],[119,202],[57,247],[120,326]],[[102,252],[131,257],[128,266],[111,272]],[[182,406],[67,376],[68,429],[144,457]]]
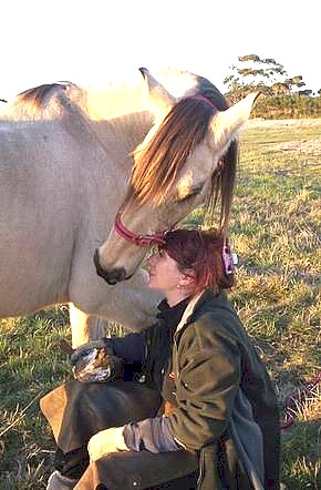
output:
[[[273,58],[321,88],[319,0],[2,0],[0,98],[42,83],[122,79],[139,67],[206,76],[237,57]]]

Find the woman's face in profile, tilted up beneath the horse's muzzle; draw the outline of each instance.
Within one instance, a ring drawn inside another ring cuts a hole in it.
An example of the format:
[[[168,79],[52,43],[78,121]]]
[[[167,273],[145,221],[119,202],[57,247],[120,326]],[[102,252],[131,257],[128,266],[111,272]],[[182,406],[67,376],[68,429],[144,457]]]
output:
[[[161,289],[168,296],[170,292],[177,290],[185,274],[178,270],[177,262],[159,249],[147,261],[148,287]]]

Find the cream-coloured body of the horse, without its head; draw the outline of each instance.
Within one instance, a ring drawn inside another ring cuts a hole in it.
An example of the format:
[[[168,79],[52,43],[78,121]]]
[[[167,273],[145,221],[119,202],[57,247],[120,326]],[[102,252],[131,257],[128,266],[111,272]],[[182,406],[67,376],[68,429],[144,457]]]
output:
[[[86,106],[71,102],[80,89],[68,90],[73,93],[50,88],[38,109],[18,100],[2,113],[0,313],[20,316],[71,302],[80,309],[73,307],[71,321],[87,324],[87,315],[99,315],[142,328],[153,321],[159,295],[145,288],[141,272],[106,287],[93,252],[112,227],[131,172],[128,154],[152,118],[89,120]],[[73,329],[74,345],[90,335],[80,330]]]

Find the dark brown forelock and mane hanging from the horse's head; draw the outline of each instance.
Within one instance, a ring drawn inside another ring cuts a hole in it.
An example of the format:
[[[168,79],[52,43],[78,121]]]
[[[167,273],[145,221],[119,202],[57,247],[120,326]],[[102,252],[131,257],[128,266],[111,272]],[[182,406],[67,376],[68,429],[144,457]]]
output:
[[[221,93],[208,80],[197,76],[197,93],[210,100],[219,111],[228,108]],[[182,99],[161,124],[145,149],[135,153],[135,164],[124,204],[135,198],[162,203],[188,155],[199,145],[209,129],[213,108],[193,98]],[[214,214],[220,202],[221,228],[227,226],[238,159],[238,144],[232,142],[211,176],[207,213]]]

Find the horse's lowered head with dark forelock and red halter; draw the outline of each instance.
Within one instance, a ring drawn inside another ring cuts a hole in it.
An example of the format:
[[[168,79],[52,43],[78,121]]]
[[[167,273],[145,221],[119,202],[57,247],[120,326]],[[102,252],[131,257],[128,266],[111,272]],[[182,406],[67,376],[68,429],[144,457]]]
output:
[[[147,246],[162,243],[195,207],[220,201],[220,227],[226,227],[232,197],[237,136],[258,93],[228,108],[206,79],[175,99],[148,70],[155,124],[134,152],[127,193],[106,242],[95,252],[97,274],[108,284],[128,279]]]

